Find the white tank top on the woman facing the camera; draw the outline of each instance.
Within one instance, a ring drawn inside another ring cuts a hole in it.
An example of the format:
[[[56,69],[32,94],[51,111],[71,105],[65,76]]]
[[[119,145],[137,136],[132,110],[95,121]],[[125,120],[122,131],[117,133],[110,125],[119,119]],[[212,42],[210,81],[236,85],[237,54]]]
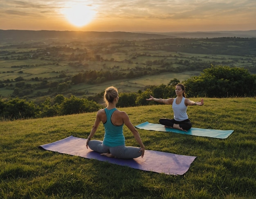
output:
[[[180,104],[176,104],[176,99],[177,97],[174,98],[172,105],[174,119],[179,122],[189,119],[189,116],[186,113],[187,106],[185,105],[185,97],[182,98]]]

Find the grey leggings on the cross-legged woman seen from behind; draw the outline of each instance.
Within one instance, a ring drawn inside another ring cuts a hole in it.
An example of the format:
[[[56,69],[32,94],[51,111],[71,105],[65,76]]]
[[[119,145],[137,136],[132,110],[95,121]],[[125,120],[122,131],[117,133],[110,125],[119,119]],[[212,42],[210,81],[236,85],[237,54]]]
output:
[[[90,140],[88,142],[90,149],[99,153],[111,153],[113,156],[123,159],[132,159],[141,156],[140,148],[135,146],[115,146],[109,147],[102,143],[101,140]]]

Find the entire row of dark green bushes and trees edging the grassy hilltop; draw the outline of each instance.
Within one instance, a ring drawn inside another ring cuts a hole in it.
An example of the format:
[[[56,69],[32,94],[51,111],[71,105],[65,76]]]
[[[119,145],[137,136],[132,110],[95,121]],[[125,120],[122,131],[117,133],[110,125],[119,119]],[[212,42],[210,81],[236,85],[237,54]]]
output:
[[[153,95],[157,98],[175,97],[175,85],[180,80],[172,79],[165,85],[146,86],[144,91],[119,93],[117,107],[143,106],[154,104],[146,98]],[[204,69],[198,76],[182,82],[186,88],[187,97],[255,97],[256,75],[247,69],[230,66],[213,66]],[[103,108],[103,92],[85,98],[64,97],[61,94],[54,98],[47,97],[45,101],[36,103],[20,99],[0,99],[0,119],[27,119],[38,117],[53,117],[98,111]],[[102,102],[102,103],[99,103]]]

